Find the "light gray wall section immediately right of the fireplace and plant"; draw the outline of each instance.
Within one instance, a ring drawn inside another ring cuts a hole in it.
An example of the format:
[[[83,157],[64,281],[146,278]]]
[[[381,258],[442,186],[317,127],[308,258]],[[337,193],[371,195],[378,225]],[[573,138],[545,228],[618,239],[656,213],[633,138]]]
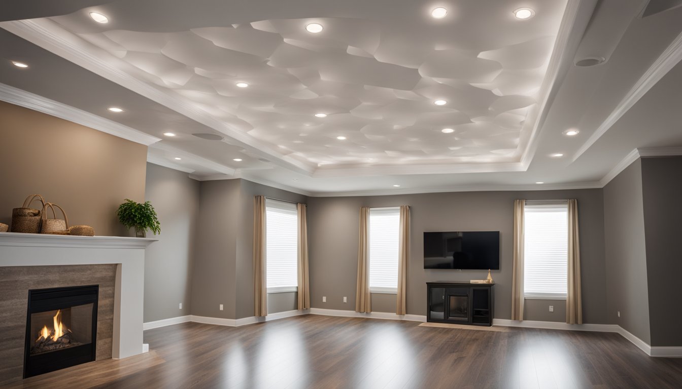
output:
[[[151,201],[161,221],[161,234],[151,236],[159,241],[149,245],[145,255],[145,322],[188,315],[199,182],[186,173],[147,164],[145,200]]]

